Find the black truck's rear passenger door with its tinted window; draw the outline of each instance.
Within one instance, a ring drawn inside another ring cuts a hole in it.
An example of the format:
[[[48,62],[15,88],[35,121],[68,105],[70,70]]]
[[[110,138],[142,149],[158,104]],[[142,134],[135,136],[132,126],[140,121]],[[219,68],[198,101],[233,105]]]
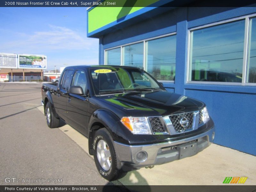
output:
[[[64,71],[60,86],[57,87],[57,100],[54,105],[58,115],[65,121],[67,116],[68,89],[73,77],[73,72],[74,70],[72,69]]]

